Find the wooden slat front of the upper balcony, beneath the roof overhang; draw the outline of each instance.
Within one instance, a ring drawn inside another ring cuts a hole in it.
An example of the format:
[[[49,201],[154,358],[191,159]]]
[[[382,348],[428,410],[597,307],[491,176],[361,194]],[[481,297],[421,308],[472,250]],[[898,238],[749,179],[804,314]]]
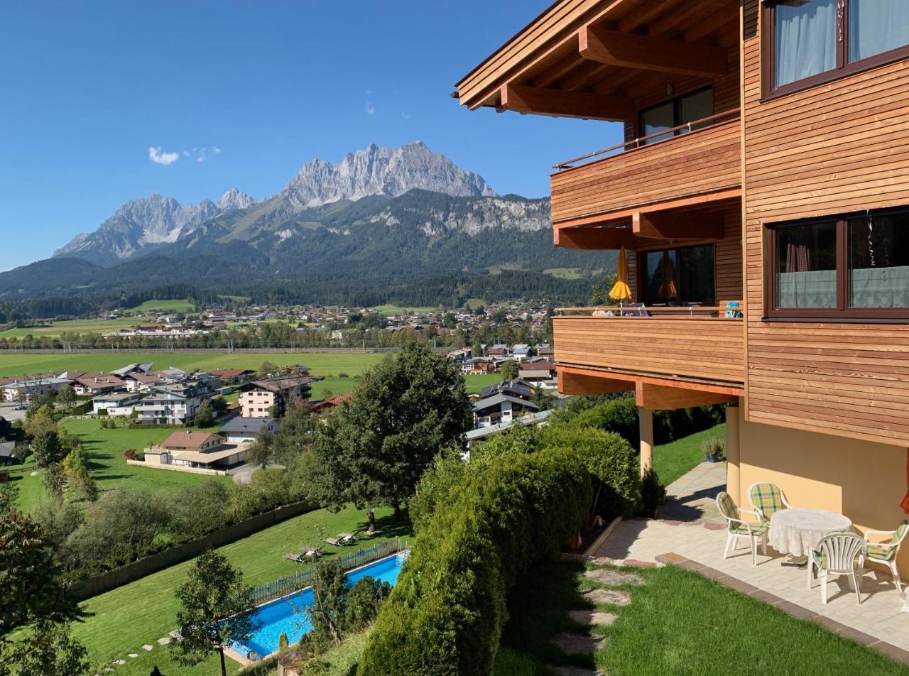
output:
[[[552,175],[554,223],[741,185],[737,120]]]

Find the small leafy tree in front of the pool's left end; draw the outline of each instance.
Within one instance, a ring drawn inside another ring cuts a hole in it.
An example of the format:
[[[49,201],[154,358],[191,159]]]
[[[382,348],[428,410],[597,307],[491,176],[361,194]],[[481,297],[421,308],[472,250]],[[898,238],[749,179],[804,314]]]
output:
[[[177,587],[176,598],[182,606],[176,613],[182,640],[171,643],[175,660],[192,666],[217,652],[221,676],[227,676],[225,645],[248,641],[255,631],[249,614],[255,605],[253,589],[245,584],[243,572],[222,554],[205,552]]]

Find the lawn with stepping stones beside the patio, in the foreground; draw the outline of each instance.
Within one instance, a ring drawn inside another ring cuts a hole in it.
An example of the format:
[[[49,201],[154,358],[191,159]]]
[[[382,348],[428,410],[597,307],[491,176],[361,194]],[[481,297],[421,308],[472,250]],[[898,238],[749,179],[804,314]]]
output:
[[[512,594],[495,676],[543,676],[544,664],[595,666],[610,676],[909,674],[820,624],[676,566],[635,571],[645,584],[626,588],[632,603],[602,607],[618,615],[611,627],[593,630],[606,637],[604,649],[593,660],[572,659],[552,639],[575,628],[566,611],[591,607],[581,592],[595,585],[583,571],[580,563],[550,562],[525,577]]]

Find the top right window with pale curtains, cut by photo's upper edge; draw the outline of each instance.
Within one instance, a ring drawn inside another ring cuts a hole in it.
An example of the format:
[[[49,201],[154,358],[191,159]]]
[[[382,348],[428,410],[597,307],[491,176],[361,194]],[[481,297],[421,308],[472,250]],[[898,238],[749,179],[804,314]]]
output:
[[[784,94],[909,56],[906,0],[770,0],[766,94]]]

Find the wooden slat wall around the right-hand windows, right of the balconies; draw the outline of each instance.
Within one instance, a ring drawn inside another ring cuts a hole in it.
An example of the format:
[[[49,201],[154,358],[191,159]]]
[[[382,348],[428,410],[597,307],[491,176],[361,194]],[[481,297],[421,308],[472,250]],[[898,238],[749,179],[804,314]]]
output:
[[[758,4],[743,7],[745,415],[909,445],[909,326],[762,321],[764,223],[909,204],[909,63],[761,103]]]

